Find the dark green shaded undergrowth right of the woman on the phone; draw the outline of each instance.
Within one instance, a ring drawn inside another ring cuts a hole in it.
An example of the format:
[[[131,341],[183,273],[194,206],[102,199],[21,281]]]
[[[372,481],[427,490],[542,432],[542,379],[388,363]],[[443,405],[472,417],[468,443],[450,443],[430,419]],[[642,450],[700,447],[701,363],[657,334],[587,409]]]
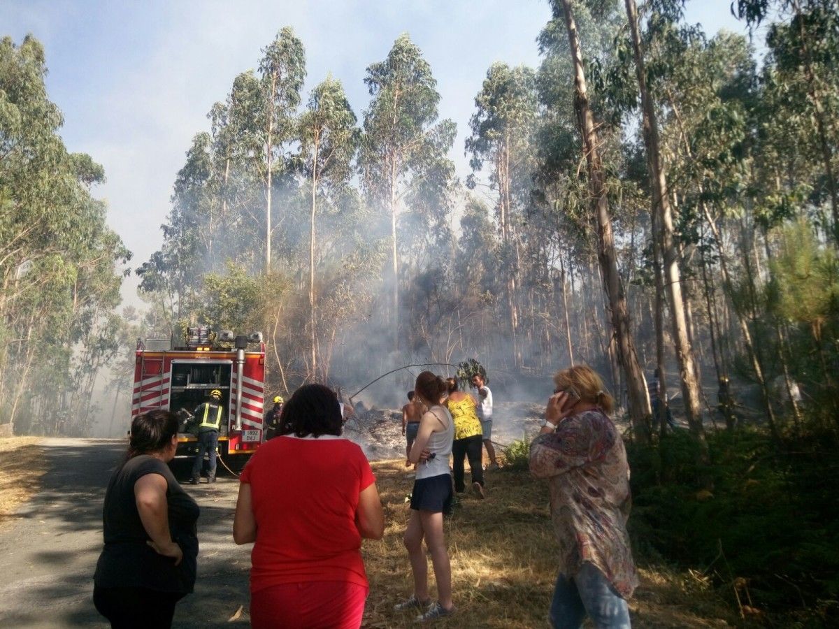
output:
[[[633,546],[711,576],[729,595],[745,578],[755,606],[780,610],[839,595],[839,504],[820,478],[836,474],[836,432],[813,427],[789,451],[763,430],[709,434],[712,491],[696,486],[695,439],[682,431],[649,450],[630,446]],[[664,470],[668,481],[657,479]],[[732,601],[733,602],[733,601]]]

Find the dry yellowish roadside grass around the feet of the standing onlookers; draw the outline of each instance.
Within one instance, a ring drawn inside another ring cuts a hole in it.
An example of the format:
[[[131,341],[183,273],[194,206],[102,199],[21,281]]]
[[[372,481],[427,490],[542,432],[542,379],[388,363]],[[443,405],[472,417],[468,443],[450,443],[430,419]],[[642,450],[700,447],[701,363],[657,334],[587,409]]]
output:
[[[405,496],[413,480],[402,460],[373,463],[388,528],[381,542],[365,542],[370,580],[365,627],[414,626],[413,613],[393,604],[412,591],[402,534],[409,517]],[[466,477],[468,481],[468,476]],[[555,541],[548,491],[527,472],[489,472],[487,499],[465,494],[454,517],[446,519],[456,616],[435,626],[530,629],[548,626],[556,578]],[[430,560],[429,560],[430,568]],[[433,570],[429,570],[435,596]],[[641,571],[642,585],[630,601],[636,627],[724,627],[737,617],[701,583],[661,569]]]

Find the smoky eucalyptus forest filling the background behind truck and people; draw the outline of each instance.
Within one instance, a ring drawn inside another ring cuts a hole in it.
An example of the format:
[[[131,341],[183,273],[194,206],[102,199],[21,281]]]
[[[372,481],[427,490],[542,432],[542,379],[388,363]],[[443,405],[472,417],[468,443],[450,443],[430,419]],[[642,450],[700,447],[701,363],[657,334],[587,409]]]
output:
[[[836,0],[736,0],[751,36],[680,0],[550,8],[538,67],[487,68],[464,146],[408,33],[354,112],[331,75],[304,93],[280,29],[206,104],[139,261],[60,138],[44,47],[0,41],[0,428],[88,434],[136,339],[189,325],[262,330],[283,395],[475,357],[541,402],[586,363],[628,419],[642,556],[747,621],[836,622]],[[143,309],[120,308],[130,273]],[[654,370],[683,428],[654,417]]]

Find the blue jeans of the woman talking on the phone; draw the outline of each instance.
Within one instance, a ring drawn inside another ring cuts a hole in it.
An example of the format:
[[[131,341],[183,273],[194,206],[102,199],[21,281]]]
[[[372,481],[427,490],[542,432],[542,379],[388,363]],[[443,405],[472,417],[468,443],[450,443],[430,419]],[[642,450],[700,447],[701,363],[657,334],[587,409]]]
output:
[[[627,601],[612,588],[594,564],[585,562],[573,577],[559,575],[550,601],[550,624],[554,629],[580,629],[591,616],[597,629],[629,629]]]

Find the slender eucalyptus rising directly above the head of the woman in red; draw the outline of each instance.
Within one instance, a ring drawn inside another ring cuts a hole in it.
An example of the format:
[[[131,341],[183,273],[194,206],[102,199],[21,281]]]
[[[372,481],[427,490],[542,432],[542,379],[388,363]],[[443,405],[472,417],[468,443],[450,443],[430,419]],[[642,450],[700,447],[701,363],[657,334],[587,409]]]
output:
[[[315,218],[319,198],[340,200],[352,177],[352,160],[358,144],[356,115],[341,81],[328,76],[312,90],[300,116],[300,161],[310,187],[309,325],[310,379],[318,370],[317,321],[315,320]]]

